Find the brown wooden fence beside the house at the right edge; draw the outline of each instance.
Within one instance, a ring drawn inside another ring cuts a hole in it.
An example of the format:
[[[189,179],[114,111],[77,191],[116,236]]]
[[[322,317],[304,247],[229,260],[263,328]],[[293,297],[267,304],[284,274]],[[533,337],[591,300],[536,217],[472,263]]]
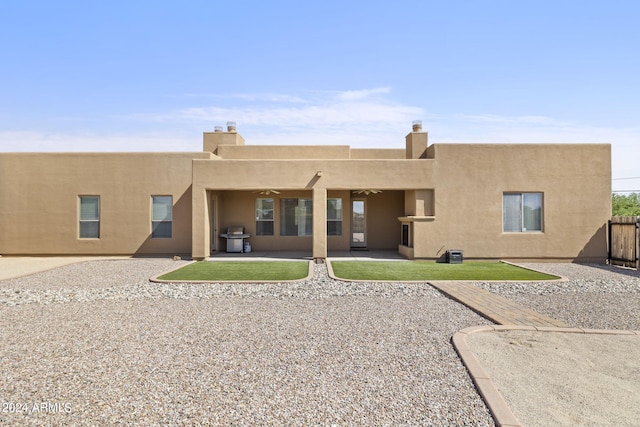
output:
[[[640,216],[614,216],[609,221],[609,263],[640,269]]]

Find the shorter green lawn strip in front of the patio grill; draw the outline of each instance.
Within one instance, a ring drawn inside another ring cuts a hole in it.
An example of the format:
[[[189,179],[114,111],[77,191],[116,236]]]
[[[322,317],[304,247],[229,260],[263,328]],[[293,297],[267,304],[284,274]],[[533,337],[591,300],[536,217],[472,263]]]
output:
[[[164,274],[160,280],[297,280],[309,274],[307,261],[200,261]]]

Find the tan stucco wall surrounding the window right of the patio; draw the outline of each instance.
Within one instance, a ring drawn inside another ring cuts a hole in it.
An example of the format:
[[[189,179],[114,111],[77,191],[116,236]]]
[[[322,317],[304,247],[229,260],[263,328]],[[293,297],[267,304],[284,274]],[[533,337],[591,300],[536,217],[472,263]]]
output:
[[[603,262],[611,216],[605,144],[435,145],[435,219],[415,224],[415,257]],[[505,233],[504,192],[542,192],[543,232]]]

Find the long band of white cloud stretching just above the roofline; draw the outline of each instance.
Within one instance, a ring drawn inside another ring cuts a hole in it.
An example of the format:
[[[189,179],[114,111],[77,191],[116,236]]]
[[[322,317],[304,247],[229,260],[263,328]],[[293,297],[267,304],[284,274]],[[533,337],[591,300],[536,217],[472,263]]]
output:
[[[212,131],[215,125],[227,121],[235,121],[238,132],[254,145],[401,148],[411,122],[421,119],[431,143],[610,143],[613,177],[640,176],[638,127],[599,127],[534,115],[432,114],[422,107],[394,101],[391,89],[385,87],[302,94],[232,94],[212,99],[215,102],[209,106],[113,119],[127,127],[133,124],[144,129],[138,132],[0,132],[0,150],[199,151],[201,132]],[[617,180],[613,185],[615,190],[640,190],[640,183],[633,180]]]

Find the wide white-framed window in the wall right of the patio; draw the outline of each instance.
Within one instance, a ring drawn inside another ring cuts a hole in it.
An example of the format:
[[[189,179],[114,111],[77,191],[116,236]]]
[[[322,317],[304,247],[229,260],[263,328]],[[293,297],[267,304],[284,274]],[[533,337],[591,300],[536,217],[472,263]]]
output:
[[[542,231],[542,193],[505,193],[502,218],[505,232]]]

